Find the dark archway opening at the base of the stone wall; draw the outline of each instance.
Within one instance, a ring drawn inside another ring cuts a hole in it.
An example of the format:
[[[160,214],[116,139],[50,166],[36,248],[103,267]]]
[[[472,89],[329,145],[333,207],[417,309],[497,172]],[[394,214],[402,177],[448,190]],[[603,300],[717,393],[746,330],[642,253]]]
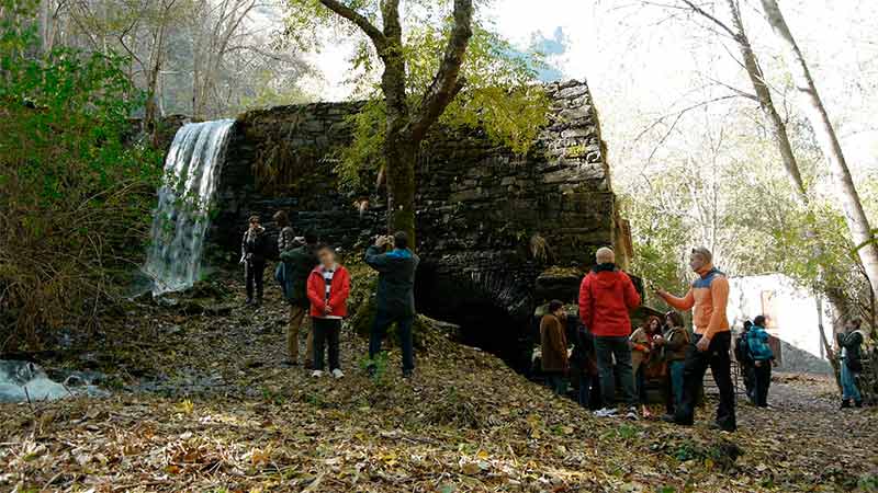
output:
[[[534,343],[529,318],[510,314],[491,293],[460,277],[423,262],[415,284],[418,311],[460,325],[459,342],[494,354],[516,371],[529,375]]]

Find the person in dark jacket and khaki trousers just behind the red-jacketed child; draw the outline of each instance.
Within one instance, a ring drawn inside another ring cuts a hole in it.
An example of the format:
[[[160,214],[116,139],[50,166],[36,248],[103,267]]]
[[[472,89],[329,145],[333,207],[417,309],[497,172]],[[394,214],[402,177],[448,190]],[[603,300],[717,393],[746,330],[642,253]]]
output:
[[[283,289],[286,301],[290,303],[290,325],[286,330],[286,354],[291,365],[299,364],[299,333],[305,321],[305,313],[311,307],[307,293],[307,279],[314,266],[319,263],[316,254],[317,236],[313,232],[305,233],[305,243],[281,252],[281,262],[284,263]],[[311,368],[314,362],[314,331],[307,331],[305,342],[305,368]]]

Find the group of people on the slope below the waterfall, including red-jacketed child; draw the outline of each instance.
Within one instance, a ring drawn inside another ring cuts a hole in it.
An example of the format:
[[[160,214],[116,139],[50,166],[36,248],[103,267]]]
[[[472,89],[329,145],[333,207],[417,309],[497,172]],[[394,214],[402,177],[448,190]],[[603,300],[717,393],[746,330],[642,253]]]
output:
[[[273,216],[280,232],[278,253],[280,263],[274,278],[280,284],[283,298],[290,305],[286,332],[286,363],[300,363],[300,334],[306,321],[311,321],[305,342],[305,368],[312,376],[325,374],[325,356],[328,353],[328,372],[342,378],[339,358],[341,321],[348,316],[347,300],[350,295],[350,274],[338,263],[335,249],[320,243],[313,232],[296,237],[289,216],[278,211]],[[262,303],[263,276],[269,256],[269,238],[258,216],[249,218],[249,228],[241,239],[247,305]],[[390,251],[387,251],[390,246]],[[379,273],[378,306],[369,341],[369,371],[375,371],[374,362],[381,353],[381,344],[391,324],[396,323],[403,352],[403,375],[408,377],[415,369],[412,325],[415,318],[415,272],[418,256],[408,248],[408,236],[380,236],[369,246],[365,264]]]

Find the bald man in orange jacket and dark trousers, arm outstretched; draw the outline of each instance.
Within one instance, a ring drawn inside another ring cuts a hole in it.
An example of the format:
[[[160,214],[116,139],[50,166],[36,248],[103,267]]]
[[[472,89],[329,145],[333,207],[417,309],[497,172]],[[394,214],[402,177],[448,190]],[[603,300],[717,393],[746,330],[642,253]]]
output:
[[[686,352],[683,370],[683,402],[667,422],[691,425],[695,402],[708,366],[720,391],[716,426],[727,432],[738,428],[734,412],[734,388],[732,387],[731,356],[732,333],[725,308],[729,303],[729,279],[713,266],[713,254],[705,246],[693,249],[689,267],[698,274],[691,288],[683,298],[665,291],[655,291],[667,305],[678,310],[695,309],[693,324],[695,336]]]

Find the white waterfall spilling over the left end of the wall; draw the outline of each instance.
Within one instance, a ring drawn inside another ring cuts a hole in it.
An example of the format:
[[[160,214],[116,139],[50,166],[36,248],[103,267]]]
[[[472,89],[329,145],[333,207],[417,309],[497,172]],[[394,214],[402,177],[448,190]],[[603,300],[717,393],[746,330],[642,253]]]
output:
[[[234,119],[183,125],[165,160],[144,272],[153,294],[185,289],[198,280],[204,234]]]

